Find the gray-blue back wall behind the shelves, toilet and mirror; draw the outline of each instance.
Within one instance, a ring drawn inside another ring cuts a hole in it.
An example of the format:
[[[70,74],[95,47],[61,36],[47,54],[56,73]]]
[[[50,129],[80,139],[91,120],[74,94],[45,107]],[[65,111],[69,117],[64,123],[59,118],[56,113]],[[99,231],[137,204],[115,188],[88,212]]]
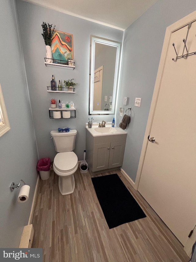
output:
[[[17,0],[16,4],[39,157],[50,157],[53,160],[56,152],[50,139],[50,131],[57,130],[58,127],[70,127],[77,130],[74,152],[78,160],[82,160],[85,150],[85,123],[89,118],[90,34],[122,41],[123,32],[28,2]],[[44,65],[45,44],[41,35],[43,21],[55,24],[56,30],[73,34],[76,66],[74,70]],[[52,74],[56,81],[63,82],[74,78],[78,83],[76,94],[48,93],[47,86],[50,85]],[[76,118],[50,119],[48,108],[51,98],[74,101],[77,109]],[[103,119],[112,121],[112,116],[108,115],[104,117],[97,115],[93,118],[94,122]]]

